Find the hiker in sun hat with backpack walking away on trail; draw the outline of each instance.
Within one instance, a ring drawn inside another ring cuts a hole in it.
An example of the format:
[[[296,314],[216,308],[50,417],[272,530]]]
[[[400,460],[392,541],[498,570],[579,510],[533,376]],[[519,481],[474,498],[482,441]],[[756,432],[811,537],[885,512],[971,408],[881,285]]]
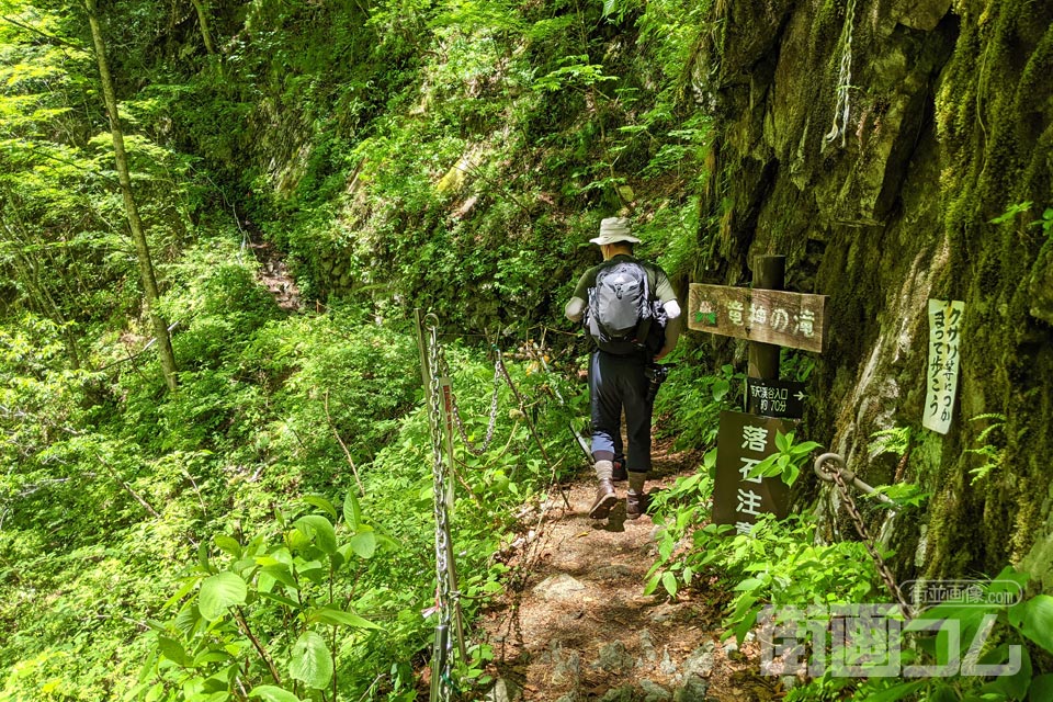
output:
[[[622,455],[624,409],[625,516],[636,519],[645,510],[644,483],[650,471],[654,396],[648,396],[648,373],[677,344],[680,304],[666,272],[633,257],[639,239],[632,235],[629,219],[603,219],[600,236],[589,241],[600,247],[603,262],[581,276],[564,310],[571,321],[585,322],[596,346],[589,360],[589,405],[599,487],[589,517],[604,519],[618,503],[613,480],[625,475],[615,476],[614,464]]]

